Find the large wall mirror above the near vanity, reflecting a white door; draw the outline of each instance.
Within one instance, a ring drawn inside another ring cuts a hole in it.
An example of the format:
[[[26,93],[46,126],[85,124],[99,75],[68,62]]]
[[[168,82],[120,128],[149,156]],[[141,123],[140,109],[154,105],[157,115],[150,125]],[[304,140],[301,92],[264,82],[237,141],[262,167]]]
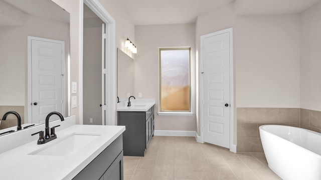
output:
[[[0,0],[0,11],[0,119],[6,112],[16,111],[21,116],[22,129],[44,123],[46,115],[57,109],[56,104],[45,103],[48,99],[58,99],[62,108],[57,111],[68,116],[70,14],[52,0]],[[37,46],[31,46],[30,37],[38,40]],[[61,50],[53,51],[43,39],[49,39],[51,45],[62,42]],[[35,49],[38,56],[42,56],[37,64],[33,61],[34,56],[30,55]],[[55,91],[48,87],[34,93],[35,83],[49,86],[58,81],[51,74],[57,66],[57,63],[52,63],[56,52],[63,59],[60,62],[62,67],[59,67],[59,75],[63,79],[61,87]],[[44,72],[42,76],[32,77],[35,68]],[[35,94],[39,101],[31,99]],[[38,115],[42,115],[39,119],[34,118],[32,108],[38,109]],[[6,120],[1,120],[0,133],[11,128],[17,131],[17,124],[17,117],[8,115]]]

